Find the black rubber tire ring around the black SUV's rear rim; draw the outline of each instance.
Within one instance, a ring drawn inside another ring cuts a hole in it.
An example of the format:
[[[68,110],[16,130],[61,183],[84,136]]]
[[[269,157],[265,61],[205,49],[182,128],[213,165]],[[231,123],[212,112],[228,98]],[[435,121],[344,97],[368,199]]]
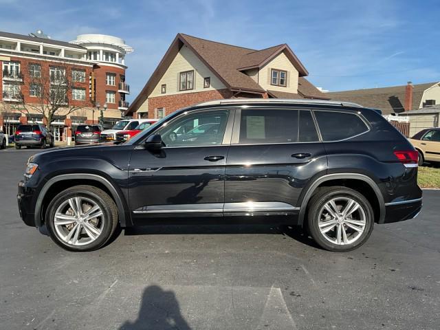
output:
[[[365,217],[366,217],[366,226],[364,232],[362,232],[362,236],[360,237],[360,239],[358,239],[354,243],[348,245],[337,245],[331,243],[330,241],[327,241],[327,239],[325,239],[325,237],[318,228],[319,211],[325,205],[325,203],[327,203],[327,201],[335,197],[351,198],[354,201],[358,202],[360,206],[364,209]],[[316,243],[318,243],[322,248],[325,248],[326,250],[330,250],[333,252],[349,252],[351,250],[355,250],[356,248],[360,247],[360,245],[364,244],[366,240],[369,239],[369,236],[371,235],[374,225],[374,213],[373,213],[373,208],[371,208],[371,204],[369,203],[369,201],[367,201],[366,198],[362,196],[359,192],[351,189],[350,190],[338,189],[335,191],[329,191],[324,195],[321,195],[320,197],[318,197],[318,199],[316,199],[316,201],[314,201],[311,210],[309,210],[308,221],[309,221],[309,230],[311,236],[315,239]]]

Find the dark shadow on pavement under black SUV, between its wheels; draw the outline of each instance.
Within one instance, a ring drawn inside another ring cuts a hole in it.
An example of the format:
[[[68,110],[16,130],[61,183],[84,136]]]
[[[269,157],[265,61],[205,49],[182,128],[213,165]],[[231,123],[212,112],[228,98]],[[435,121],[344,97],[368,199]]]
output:
[[[160,234],[280,234],[295,241],[318,248],[311,237],[299,226],[270,224],[219,224],[219,225],[144,225],[125,228],[125,236],[160,235]]]

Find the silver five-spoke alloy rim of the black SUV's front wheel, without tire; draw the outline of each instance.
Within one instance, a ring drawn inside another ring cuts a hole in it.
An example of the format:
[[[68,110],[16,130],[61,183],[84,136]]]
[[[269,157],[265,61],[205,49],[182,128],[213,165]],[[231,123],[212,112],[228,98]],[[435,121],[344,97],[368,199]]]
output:
[[[65,243],[80,246],[98,239],[104,221],[104,213],[96,202],[86,197],[72,197],[56,209],[54,227]]]

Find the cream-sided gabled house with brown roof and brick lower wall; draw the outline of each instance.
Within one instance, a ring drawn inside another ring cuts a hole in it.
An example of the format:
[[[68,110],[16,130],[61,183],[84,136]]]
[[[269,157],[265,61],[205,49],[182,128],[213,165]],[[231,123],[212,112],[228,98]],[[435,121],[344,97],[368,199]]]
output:
[[[162,118],[182,107],[221,98],[328,100],[307,75],[286,44],[252,50],[177,34],[126,115]]]

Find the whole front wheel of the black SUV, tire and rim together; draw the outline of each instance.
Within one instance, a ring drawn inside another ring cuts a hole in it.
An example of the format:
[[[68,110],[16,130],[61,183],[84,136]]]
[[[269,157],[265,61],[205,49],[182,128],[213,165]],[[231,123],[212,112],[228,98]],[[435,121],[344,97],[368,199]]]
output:
[[[91,208],[89,220],[78,218],[74,212],[81,206],[80,213]],[[73,204],[73,206],[72,206]],[[55,214],[63,214],[55,221]],[[69,224],[59,221],[69,221]],[[98,250],[113,235],[118,225],[118,209],[106,192],[94,186],[74,186],[60,192],[47,207],[45,224],[52,240],[61,248],[74,252]],[[92,228],[91,228],[92,227]],[[80,228],[78,232],[77,229]],[[91,234],[90,234],[91,233]],[[95,236],[95,237],[93,237]]]

